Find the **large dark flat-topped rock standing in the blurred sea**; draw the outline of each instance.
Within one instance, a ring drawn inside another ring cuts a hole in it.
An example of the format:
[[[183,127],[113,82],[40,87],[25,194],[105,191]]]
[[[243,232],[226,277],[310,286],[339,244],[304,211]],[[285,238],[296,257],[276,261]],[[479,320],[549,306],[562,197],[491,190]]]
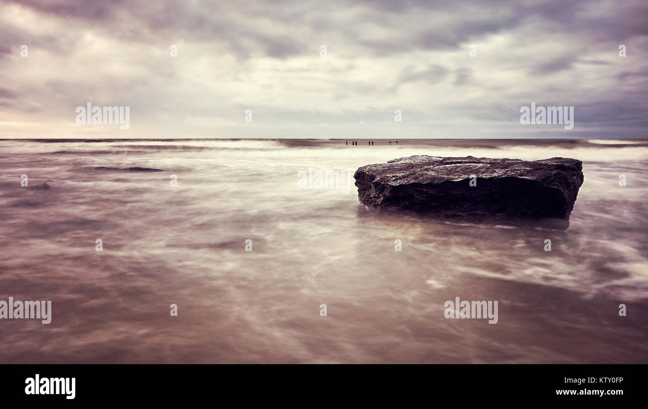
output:
[[[470,185],[473,176],[476,186]],[[418,155],[362,166],[354,177],[367,208],[567,228],[583,162]]]

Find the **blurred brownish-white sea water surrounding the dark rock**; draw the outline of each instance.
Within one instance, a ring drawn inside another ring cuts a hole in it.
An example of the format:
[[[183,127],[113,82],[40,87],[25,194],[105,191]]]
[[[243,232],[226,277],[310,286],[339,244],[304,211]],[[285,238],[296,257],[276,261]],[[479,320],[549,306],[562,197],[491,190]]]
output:
[[[584,183],[564,231],[365,210],[353,172],[410,155],[572,157]],[[52,301],[0,320],[0,362],[648,363],[647,164],[642,140],[0,140],[0,300]],[[457,296],[497,324],[446,319]]]

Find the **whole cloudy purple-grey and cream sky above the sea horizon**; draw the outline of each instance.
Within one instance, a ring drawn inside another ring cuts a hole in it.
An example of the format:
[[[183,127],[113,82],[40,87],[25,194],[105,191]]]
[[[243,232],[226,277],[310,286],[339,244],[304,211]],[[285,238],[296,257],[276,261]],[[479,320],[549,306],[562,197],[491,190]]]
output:
[[[647,91],[646,0],[0,1],[1,138],[644,138]]]

